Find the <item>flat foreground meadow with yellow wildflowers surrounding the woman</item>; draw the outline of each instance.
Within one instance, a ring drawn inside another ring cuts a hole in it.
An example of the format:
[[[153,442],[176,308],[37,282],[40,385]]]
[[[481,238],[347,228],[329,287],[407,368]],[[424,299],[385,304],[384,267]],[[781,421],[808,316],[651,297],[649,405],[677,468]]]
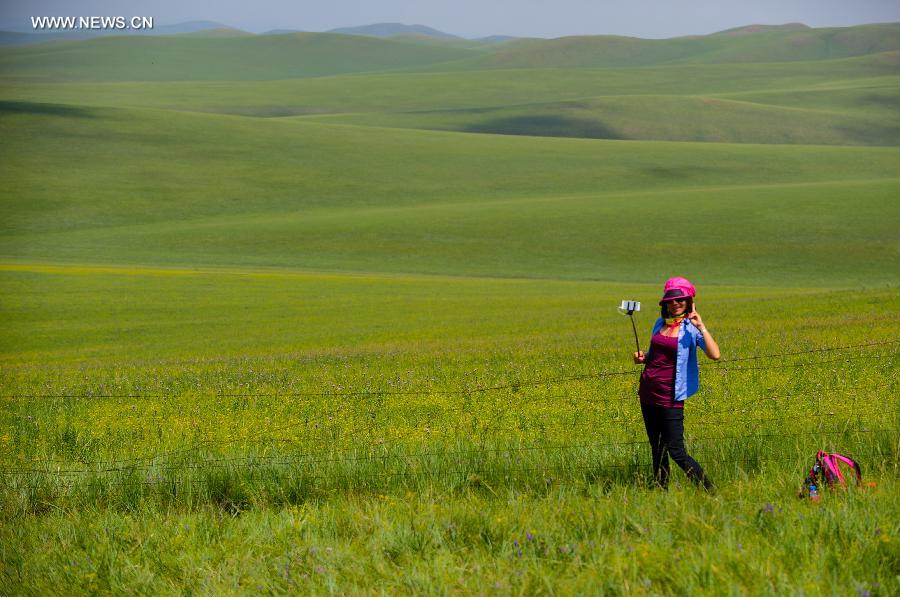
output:
[[[680,473],[647,489],[638,369],[612,307],[652,304],[655,284],[3,277],[14,592],[897,586],[893,289],[701,289],[734,361],[704,363],[688,404],[688,444],[720,487],[707,496]],[[859,458],[877,486],[798,500],[818,448]]]

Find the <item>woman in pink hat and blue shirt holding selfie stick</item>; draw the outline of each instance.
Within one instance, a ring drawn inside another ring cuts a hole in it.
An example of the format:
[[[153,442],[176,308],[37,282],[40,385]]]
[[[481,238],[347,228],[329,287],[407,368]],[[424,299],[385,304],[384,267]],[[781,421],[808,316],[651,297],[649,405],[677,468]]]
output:
[[[684,448],[684,401],[700,387],[697,348],[714,361],[720,357],[719,346],[697,313],[694,296],[694,285],[685,278],[666,282],[659,301],[662,316],[653,325],[650,349],[646,355],[634,353],[634,362],[644,364],[638,396],[656,482],[668,487],[672,456],[691,481],[712,490],[703,468]]]

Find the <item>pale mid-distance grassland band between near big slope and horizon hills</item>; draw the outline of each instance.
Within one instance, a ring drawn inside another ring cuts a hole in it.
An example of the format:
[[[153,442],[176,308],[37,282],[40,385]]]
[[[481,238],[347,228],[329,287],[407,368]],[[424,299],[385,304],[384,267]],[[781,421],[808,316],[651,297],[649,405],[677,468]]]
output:
[[[900,52],[775,64],[0,85],[0,100],[518,135],[896,145]]]

